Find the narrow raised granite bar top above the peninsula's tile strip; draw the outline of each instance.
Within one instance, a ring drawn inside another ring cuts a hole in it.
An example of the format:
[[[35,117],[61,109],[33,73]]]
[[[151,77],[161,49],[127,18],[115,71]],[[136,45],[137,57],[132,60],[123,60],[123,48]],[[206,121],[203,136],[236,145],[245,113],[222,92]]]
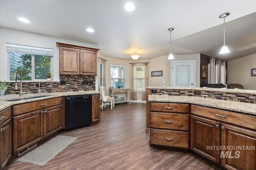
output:
[[[146,87],[147,89],[177,89],[177,90],[206,90],[214,92],[232,92],[232,93],[249,93],[256,94],[256,90],[244,90],[244,89],[231,89],[231,88],[203,88],[203,87]]]

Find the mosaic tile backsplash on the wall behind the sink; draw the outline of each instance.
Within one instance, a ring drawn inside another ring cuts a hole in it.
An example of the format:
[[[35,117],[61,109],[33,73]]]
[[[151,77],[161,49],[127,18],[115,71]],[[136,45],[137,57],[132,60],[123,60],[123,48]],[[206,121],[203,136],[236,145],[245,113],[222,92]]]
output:
[[[64,83],[64,85],[61,85]],[[67,76],[60,75],[59,82],[40,82],[40,92],[70,92],[80,90],[95,90],[95,76]],[[18,90],[14,89],[14,82],[10,83],[5,94],[18,94],[20,91],[20,81]],[[27,93],[38,93],[38,82],[22,82],[22,91]]]

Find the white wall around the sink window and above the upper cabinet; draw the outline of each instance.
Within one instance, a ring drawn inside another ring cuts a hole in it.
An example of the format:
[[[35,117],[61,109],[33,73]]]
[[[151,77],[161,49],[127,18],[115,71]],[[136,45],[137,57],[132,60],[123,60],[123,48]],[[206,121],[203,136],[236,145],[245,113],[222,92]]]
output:
[[[14,29],[8,29],[0,27],[0,80],[9,80],[10,73],[8,72],[8,59],[6,52],[6,43],[17,44],[17,45],[27,45],[32,47],[42,47],[53,49],[54,51],[54,70],[53,77],[54,81],[59,81],[59,49],[56,46],[56,42],[66,43],[72,45],[79,45],[83,47],[90,47],[98,49],[98,45],[84,43],[81,41],[74,41],[71,39],[64,39],[59,37],[50,37],[47,35],[40,35],[35,33],[28,33],[24,31],[17,31]],[[98,87],[98,78],[96,76],[96,86]],[[96,87],[96,88],[97,88]]]

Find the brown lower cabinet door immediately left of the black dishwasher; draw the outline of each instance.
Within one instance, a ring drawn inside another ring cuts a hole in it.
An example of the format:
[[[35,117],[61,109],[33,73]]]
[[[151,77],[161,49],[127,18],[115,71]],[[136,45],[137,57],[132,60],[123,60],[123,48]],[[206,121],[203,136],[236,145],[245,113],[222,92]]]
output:
[[[63,105],[44,109],[44,138],[63,129]]]

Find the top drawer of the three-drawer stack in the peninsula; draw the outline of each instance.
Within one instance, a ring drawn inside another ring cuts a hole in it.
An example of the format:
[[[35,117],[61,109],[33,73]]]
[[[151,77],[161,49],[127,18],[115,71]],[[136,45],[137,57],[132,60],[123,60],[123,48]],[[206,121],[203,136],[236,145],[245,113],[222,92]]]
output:
[[[189,104],[171,104],[150,102],[150,111],[189,113]]]

